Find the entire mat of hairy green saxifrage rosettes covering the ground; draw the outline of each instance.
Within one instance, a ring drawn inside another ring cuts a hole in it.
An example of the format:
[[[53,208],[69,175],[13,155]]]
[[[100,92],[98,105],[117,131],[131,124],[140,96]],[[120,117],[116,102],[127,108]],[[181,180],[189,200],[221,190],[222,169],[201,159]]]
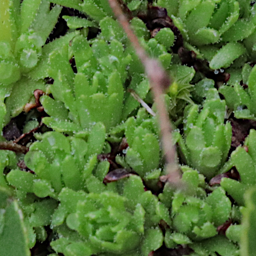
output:
[[[56,4],[51,10],[46,0],[0,2],[1,125],[21,113],[26,103],[33,102],[33,91],[41,89],[46,94],[40,103],[49,115],[42,122],[54,130],[35,134],[37,141],[27,144],[25,156],[0,152],[0,255],[29,256],[36,241],[49,241],[52,256],[146,256],[163,243],[169,250],[179,245],[190,248],[194,256],[233,256],[240,255],[240,242],[241,255],[251,255],[254,131],[245,143],[248,153],[239,147],[222,166],[231,142],[230,123],[224,123],[225,104],[231,110],[246,106],[240,117],[254,118],[255,68],[248,62],[255,58],[254,7],[241,0],[153,3],[167,9],[181,32],[180,49],[193,50],[216,73],[228,68],[228,86],[219,90],[225,102],[213,89],[218,81],[205,78],[193,63],[189,66],[194,68],[181,65],[181,50],[173,50],[177,31],[158,28],[158,33],[151,34],[143,18],[136,17],[145,12],[147,2],[124,1],[131,11],[125,14],[141,45],[172,75],[164,99],[175,125],[184,120],[183,135],[176,132],[174,136],[181,162],[194,168],[181,166],[183,187],[175,189],[167,182],[161,191],[159,179],[166,173],[157,118],[138,110],[139,103],[130,92],[157,109],[144,68],[108,2],[56,0],[51,1]],[[69,27],[66,35],[45,45],[61,11],[59,5],[88,18],[63,16]],[[87,39],[92,27],[100,33]],[[44,81],[49,77],[52,84]],[[248,92],[240,87],[241,80],[248,84]],[[193,100],[202,102],[202,109]],[[187,102],[190,105],[184,111]],[[239,113],[235,112],[237,117]],[[110,154],[122,138],[128,147],[114,161],[133,173],[103,184],[110,162],[97,156]],[[17,168],[20,160],[29,172]],[[209,187],[207,180],[232,166],[241,181],[223,178],[221,186]],[[238,225],[219,234],[230,221]]]

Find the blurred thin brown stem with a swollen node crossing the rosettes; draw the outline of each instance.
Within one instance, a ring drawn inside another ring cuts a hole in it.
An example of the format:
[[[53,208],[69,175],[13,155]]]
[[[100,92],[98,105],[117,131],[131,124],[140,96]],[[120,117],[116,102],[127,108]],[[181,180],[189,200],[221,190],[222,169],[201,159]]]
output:
[[[164,90],[168,88],[170,84],[169,76],[164,71],[159,61],[148,57],[145,50],[141,47],[138,37],[132,31],[129,21],[123,14],[118,2],[116,0],[109,0],[109,3],[117,17],[118,22],[131,41],[136,54],[143,63],[145,72],[150,80],[159,115],[162,147],[167,162],[167,176],[165,176],[165,180],[177,184],[180,180],[178,157],[176,147],[173,145],[172,141],[172,126],[170,125],[168,113],[165,109],[164,100],[162,98]]]

